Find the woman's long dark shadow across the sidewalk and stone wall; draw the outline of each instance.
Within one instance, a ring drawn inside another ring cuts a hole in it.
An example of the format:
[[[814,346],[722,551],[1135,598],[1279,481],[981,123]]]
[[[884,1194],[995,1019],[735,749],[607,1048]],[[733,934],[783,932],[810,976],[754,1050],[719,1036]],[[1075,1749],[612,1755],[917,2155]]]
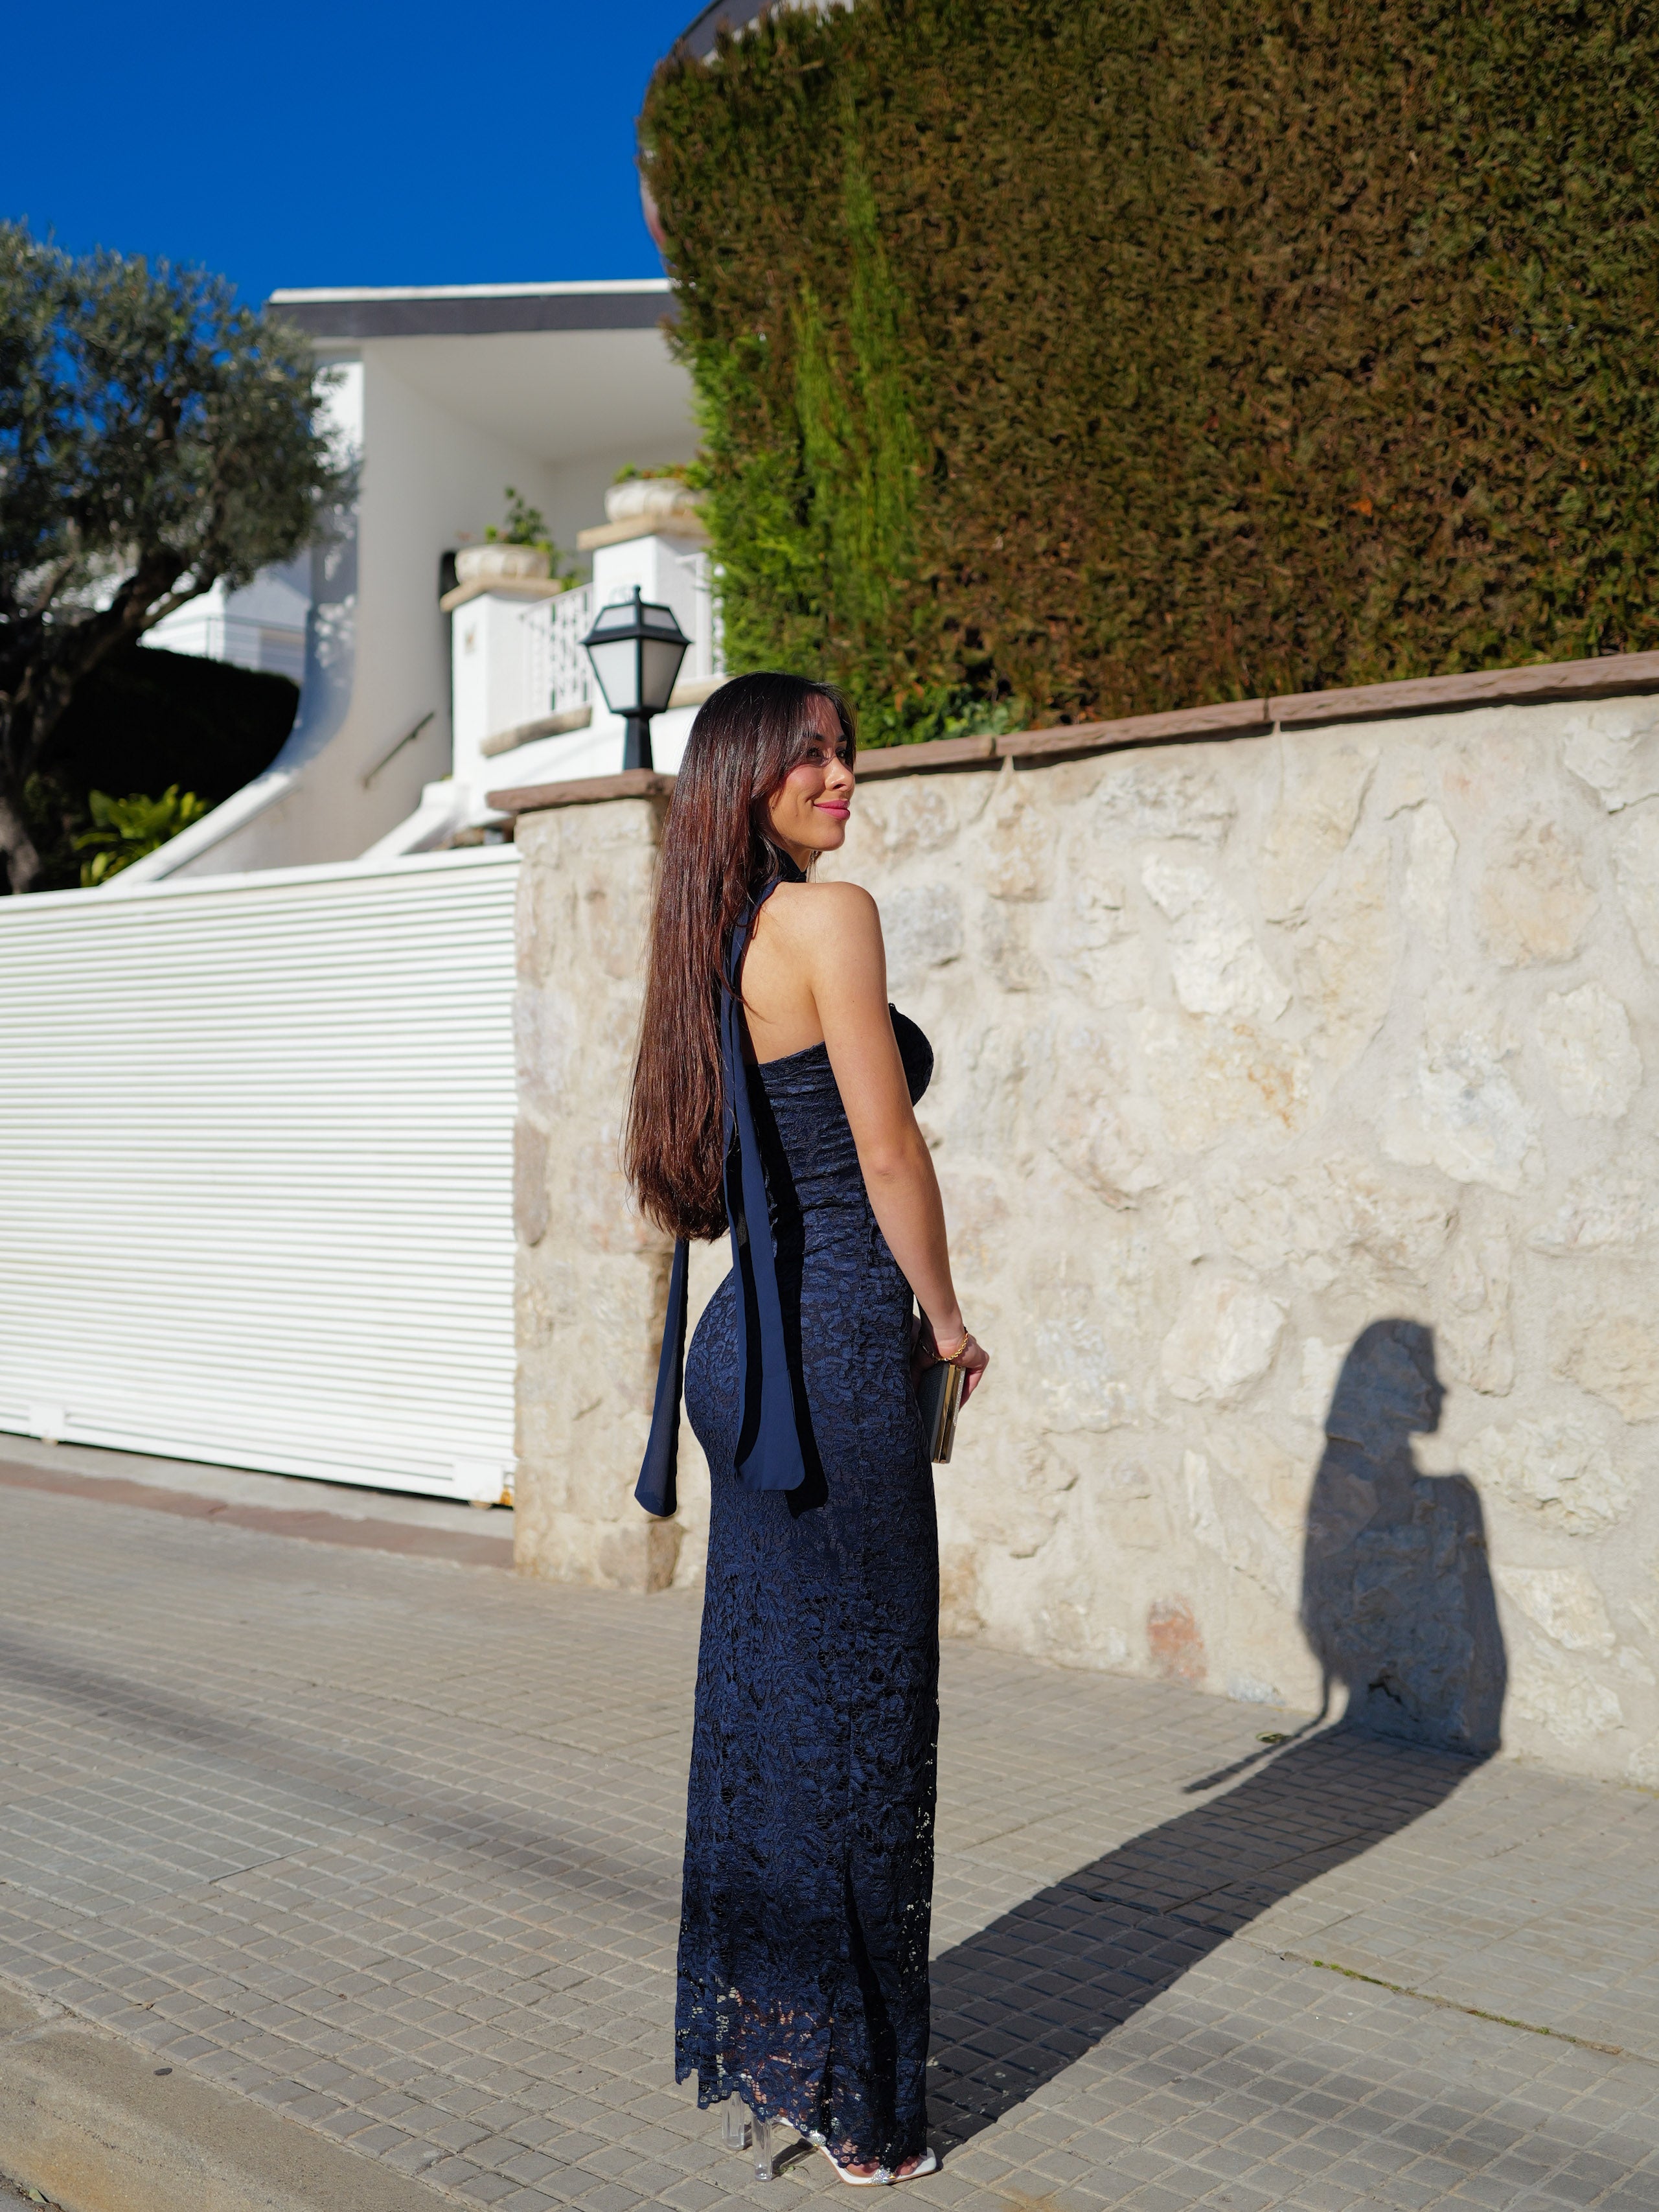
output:
[[[1307,1728],[1190,1783],[1252,1770],[933,1962],[929,2117],[947,2148],[1259,1913],[1444,1803],[1498,1747],[1506,1666],[1480,1498],[1411,1453],[1442,1402],[1422,1323],[1356,1338],[1307,1502],[1301,1619],[1325,1677]]]

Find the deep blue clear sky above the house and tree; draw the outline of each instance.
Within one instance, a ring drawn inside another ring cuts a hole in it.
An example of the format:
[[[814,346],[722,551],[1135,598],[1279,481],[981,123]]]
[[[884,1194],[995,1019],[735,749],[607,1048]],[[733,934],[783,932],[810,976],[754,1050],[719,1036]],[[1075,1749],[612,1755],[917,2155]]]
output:
[[[7,20],[0,212],[276,285],[659,276],[633,119],[699,0]],[[18,97],[29,86],[29,95]]]

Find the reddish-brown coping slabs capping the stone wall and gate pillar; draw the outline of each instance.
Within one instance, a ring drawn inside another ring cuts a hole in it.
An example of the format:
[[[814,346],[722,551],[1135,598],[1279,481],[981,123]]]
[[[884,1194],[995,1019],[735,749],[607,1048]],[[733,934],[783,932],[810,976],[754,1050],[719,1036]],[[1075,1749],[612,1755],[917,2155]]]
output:
[[[1170,714],[1128,714],[1121,721],[1073,721],[1009,737],[940,737],[927,745],[880,745],[858,754],[858,776],[922,776],[940,770],[989,768],[998,761],[1060,761],[1128,745],[1168,745],[1206,737],[1256,737],[1267,730],[1316,730],[1325,723],[1385,721],[1402,714],[1444,714],[1475,706],[1546,706],[1571,699],[1610,699],[1659,690],[1659,653],[1606,653],[1590,661],[1535,661],[1524,668],[1478,668],[1449,677],[1407,677],[1400,684],[1356,684],[1347,690],[1279,692],[1263,699],[1221,699]],[[540,783],[491,792],[502,814],[540,807],[577,807],[597,799],[646,799],[672,792],[675,779],[650,770],[586,776],[577,783]]]

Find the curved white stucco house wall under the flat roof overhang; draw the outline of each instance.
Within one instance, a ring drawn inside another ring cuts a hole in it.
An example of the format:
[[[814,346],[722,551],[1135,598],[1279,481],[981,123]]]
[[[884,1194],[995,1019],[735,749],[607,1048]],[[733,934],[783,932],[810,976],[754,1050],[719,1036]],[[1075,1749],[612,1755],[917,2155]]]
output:
[[[376,845],[451,770],[442,553],[502,522],[509,484],[568,553],[602,520],[624,465],[686,460],[695,447],[690,380],[659,332],[365,338],[321,358],[343,367],[334,414],[361,456],[361,487],[336,540],[312,555],[294,734],[259,785],[137,863],[133,883],[343,860]]]

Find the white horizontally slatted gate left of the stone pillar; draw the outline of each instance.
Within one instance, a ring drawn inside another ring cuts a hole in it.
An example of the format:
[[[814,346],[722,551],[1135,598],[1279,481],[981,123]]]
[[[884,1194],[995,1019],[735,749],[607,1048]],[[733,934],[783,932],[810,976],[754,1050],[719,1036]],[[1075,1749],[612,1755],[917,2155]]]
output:
[[[515,874],[0,900],[0,1429],[502,1493]]]

